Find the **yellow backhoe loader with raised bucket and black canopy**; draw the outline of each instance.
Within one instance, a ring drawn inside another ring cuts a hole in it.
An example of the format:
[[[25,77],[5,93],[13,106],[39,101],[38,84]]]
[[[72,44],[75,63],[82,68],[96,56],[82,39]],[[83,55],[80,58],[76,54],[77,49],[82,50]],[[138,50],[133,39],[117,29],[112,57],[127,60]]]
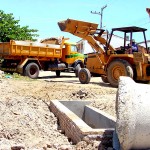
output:
[[[145,31],[141,27],[113,28],[109,40],[102,37],[103,29],[97,29],[98,24],[79,20],[67,19],[58,22],[61,31],[69,32],[75,36],[87,40],[94,49],[88,54],[85,61],[86,68],[79,71],[79,80],[82,84],[90,81],[91,74],[99,74],[102,80],[118,87],[120,76],[129,76],[135,81],[148,83],[150,81],[150,55],[147,48]],[[124,44],[115,49],[111,45],[112,35],[115,31],[124,33]],[[134,33],[142,33],[145,41],[145,51],[138,51],[132,54],[127,49],[132,42]],[[127,40],[127,37],[129,40]]]

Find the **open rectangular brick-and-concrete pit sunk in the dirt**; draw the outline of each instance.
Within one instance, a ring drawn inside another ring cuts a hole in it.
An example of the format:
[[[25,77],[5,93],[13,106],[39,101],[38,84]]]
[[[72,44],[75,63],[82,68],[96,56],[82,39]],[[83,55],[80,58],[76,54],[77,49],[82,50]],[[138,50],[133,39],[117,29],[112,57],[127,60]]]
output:
[[[116,119],[89,104],[90,101],[52,100],[50,110],[58,118],[62,132],[74,144],[88,138],[112,146]]]

